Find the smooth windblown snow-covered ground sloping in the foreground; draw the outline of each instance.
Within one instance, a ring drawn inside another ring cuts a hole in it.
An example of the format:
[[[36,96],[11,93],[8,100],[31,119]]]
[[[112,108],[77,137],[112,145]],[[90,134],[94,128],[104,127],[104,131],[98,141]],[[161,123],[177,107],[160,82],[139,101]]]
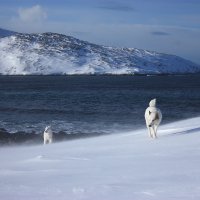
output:
[[[199,122],[161,125],[157,140],[144,129],[0,148],[0,199],[199,200]]]

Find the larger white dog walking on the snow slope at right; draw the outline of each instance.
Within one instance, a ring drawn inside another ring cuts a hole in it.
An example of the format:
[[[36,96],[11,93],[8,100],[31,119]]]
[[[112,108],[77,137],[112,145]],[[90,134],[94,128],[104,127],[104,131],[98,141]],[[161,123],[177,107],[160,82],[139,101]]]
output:
[[[157,129],[162,121],[162,113],[160,109],[156,108],[156,99],[152,99],[149,102],[149,107],[146,109],[144,117],[149,137],[157,138]]]

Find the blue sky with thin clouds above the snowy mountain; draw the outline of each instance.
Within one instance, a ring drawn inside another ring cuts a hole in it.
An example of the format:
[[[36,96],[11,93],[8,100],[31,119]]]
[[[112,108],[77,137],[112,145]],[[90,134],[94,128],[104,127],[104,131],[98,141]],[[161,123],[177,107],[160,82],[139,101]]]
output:
[[[200,64],[200,0],[0,0],[0,28],[62,33]]]

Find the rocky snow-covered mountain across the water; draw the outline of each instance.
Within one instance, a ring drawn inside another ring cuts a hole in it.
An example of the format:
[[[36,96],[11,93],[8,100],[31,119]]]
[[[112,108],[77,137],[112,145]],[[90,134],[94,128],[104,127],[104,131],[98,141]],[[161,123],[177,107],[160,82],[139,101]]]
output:
[[[57,33],[0,29],[0,74],[183,74],[200,65],[175,55],[114,48]]]

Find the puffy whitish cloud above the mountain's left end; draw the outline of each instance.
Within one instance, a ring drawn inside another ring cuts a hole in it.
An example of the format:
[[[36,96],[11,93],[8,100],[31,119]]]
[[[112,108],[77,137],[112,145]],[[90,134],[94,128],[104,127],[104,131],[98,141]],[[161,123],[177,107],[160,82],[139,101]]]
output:
[[[20,8],[18,15],[23,22],[40,22],[47,18],[46,12],[40,5],[35,5],[31,8]]]

